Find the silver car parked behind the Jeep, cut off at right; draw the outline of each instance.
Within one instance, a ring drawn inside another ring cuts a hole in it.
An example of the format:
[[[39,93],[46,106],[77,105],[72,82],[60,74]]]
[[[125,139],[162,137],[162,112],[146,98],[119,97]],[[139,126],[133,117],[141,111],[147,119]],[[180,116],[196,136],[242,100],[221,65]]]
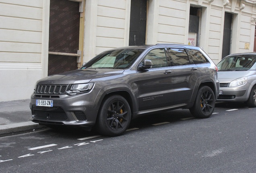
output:
[[[246,102],[256,107],[256,52],[231,54],[218,64],[217,101]]]

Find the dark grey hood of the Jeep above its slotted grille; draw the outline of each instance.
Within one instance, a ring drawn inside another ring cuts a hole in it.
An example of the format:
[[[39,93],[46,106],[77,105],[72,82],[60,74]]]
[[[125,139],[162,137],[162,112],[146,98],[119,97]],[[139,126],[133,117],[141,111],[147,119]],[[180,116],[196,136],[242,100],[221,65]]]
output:
[[[83,69],[64,72],[47,76],[37,81],[39,84],[75,84],[88,83],[95,78],[103,78],[122,74],[124,70],[120,69]]]

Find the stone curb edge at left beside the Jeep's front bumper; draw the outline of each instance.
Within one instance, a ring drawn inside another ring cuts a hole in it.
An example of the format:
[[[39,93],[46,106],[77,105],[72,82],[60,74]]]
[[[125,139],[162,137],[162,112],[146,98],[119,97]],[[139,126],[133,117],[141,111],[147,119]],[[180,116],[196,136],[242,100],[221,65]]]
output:
[[[13,133],[20,133],[25,131],[34,131],[38,129],[46,129],[44,125],[39,125],[38,123],[33,122],[24,122],[24,123],[14,123],[9,125],[0,126],[0,135],[8,135]]]

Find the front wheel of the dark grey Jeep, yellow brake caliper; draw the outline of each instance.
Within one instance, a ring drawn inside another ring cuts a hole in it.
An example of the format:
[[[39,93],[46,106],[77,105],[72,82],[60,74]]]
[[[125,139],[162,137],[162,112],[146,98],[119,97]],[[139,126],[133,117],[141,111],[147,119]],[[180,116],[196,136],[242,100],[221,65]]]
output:
[[[119,136],[129,127],[130,105],[120,95],[113,95],[103,101],[99,109],[96,129],[101,135]]]

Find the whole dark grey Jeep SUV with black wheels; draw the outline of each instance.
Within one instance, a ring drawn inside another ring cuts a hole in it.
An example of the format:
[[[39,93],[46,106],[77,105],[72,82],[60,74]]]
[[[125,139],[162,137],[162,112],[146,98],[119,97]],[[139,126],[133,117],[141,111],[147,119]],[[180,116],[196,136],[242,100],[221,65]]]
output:
[[[218,95],[217,66],[201,48],[128,46],[102,52],[79,70],[38,80],[31,121],[118,136],[139,115],[182,108],[210,117]]]

